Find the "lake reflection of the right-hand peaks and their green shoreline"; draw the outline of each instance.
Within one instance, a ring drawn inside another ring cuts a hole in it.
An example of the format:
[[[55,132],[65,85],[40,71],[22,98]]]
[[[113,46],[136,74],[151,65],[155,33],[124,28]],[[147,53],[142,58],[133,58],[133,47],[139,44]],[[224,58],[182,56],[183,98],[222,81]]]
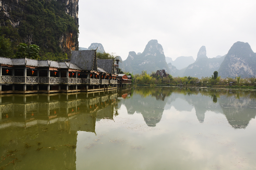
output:
[[[183,95],[182,95],[183,94]],[[167,105],[177,110],[196,110],[199,122],[207,111],[224,114],[233,128],[245,128],[255,118],[255,91],[230,91],[178,88],[173,90]]]

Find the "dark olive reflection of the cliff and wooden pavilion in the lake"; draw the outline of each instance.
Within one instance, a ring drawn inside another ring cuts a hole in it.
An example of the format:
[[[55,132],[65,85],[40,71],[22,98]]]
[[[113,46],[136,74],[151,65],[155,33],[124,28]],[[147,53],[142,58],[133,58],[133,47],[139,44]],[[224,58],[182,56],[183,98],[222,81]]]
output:
[[[77,131],[95,133],[96,120],[113,119],[116,101],[114,92],[1,96],[0,156],[13,152],[17,170],[75,170]]]

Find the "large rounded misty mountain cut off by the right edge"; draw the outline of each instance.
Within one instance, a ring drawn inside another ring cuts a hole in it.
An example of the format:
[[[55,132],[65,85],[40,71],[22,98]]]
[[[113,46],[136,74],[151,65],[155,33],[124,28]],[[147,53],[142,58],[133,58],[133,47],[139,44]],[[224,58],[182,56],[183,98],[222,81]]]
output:
[[[256,76],[256,53],[247,42],[238,41],[230,48],[218,72],[222,78]]]

